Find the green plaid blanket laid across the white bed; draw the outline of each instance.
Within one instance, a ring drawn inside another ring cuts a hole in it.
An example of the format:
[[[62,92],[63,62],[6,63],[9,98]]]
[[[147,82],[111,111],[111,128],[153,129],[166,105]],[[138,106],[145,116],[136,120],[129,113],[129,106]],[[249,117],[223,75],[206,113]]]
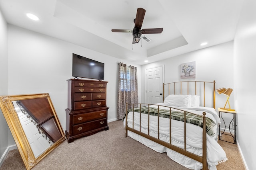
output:
[[[129,109],[129,111],[132,111],[132,110],[133,109]],[[141,109],[134,108],[135,112],[140,113],[140,110],[141,110],[141,113],[148,114],[148,106],[141,107]],[[158,108],[149,107],[149,114],[158,116]],[[165,117],[170,119],[170,110],[159,109],[159,117]],[[184,111],[171,110],[171,119],[184,122]],[[200,115],[186,112],[186,123],[191,123],[193,125],[203,127],[203,117]],[[206,117],[206,132],[208,133],[208,135],[215,136],[215,133],[213,131],[213,127],[215,125],[216,123],[212,121],[212,119]]]

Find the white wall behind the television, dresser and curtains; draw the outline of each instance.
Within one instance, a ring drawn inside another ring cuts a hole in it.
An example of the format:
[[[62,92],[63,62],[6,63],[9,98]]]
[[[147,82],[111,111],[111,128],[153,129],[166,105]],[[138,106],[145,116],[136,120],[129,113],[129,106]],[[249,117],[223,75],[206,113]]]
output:
[[[118,63],[131,63],[14,25],[8,25],[8,95],[49,93],[66,130],[66,80],[74,78],[72,53],[105,63],[108,121],[116,120]],[[140,84],[140,66],[133,65],[137,66]]]

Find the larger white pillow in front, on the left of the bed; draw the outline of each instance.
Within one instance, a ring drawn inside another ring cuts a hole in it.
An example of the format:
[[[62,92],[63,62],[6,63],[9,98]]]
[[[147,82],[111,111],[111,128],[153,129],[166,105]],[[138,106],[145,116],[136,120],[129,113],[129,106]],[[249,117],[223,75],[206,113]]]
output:
[[[177,107],[190,107],[191,95],[171,94],[165,98],[164,105],[177,106]]]

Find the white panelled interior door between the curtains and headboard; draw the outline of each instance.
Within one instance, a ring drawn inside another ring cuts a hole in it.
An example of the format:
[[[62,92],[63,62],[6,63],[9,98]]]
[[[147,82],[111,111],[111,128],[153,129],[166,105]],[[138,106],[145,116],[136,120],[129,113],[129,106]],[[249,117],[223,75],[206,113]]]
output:
[[[163,66],[146,69],[146,103],[163,102]]]

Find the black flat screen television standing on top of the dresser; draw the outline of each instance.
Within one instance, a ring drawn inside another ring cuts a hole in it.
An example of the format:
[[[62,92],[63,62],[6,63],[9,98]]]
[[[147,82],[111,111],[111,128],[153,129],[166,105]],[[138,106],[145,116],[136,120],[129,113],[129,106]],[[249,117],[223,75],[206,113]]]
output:
[[[72,76],[104,80],[104,63],[73,53]]]

